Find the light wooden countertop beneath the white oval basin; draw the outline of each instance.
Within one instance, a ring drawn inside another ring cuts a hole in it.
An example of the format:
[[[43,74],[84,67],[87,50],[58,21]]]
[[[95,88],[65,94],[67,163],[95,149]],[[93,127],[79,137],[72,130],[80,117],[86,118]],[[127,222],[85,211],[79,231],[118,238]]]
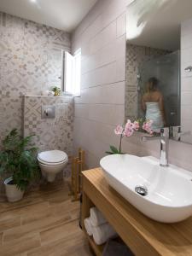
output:
[[[192,255],[192,217],[161,224],[144,216],[108,185],[101,168],[83,172],[83,191],[135,255]]]

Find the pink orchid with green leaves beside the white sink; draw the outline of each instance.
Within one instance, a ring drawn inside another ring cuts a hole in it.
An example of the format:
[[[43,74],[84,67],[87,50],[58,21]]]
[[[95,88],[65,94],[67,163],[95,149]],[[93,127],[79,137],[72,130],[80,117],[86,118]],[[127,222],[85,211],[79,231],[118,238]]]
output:
[[[110,146],[111,151],[107,151],[106,154],[124,154],[121,150],[123,137],[131,137],[134,131],[139,130],[147,131],[149,134],[153,134],[151,129],[152,123],[152,120],[145,120],[143,122],[142,119],[139,119],[131,122],[131,120],[128,119],[125,125],[117,125],[117,127],[114,129],[114,133],[120,136],[119,148]]]

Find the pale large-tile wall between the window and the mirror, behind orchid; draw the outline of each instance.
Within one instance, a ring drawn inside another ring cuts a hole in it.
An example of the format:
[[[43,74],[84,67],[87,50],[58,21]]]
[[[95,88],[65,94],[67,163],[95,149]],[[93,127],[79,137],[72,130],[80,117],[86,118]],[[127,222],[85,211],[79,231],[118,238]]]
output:
[[[94,15],[94,18],[92,17]],[[98,166],[109,144],[118,144],[115,125],[124,120],[125,0],[102,0],[73,34],[82,48],[81,96],[75,99],[75,148]]]

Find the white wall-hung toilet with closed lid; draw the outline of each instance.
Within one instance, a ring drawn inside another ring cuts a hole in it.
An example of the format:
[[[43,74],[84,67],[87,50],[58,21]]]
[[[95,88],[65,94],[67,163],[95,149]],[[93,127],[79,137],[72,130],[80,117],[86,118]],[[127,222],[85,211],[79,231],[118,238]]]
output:
[[[38,154],[38,164],[43,177],[49,183],[54,182],[57,173],[67,166],[68,156],[61,150],[49,150]]]

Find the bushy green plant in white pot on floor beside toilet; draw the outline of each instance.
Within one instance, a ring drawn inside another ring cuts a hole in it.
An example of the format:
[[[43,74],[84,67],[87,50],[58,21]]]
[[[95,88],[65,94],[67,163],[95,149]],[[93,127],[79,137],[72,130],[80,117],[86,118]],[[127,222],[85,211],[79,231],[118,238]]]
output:
[[[3,139],[0,174],[10,175],[4,181],[8,201],[19,201],[29,183],[39,177],[38,148],[31,146],[33,136],[20,137],[14,129]]]

